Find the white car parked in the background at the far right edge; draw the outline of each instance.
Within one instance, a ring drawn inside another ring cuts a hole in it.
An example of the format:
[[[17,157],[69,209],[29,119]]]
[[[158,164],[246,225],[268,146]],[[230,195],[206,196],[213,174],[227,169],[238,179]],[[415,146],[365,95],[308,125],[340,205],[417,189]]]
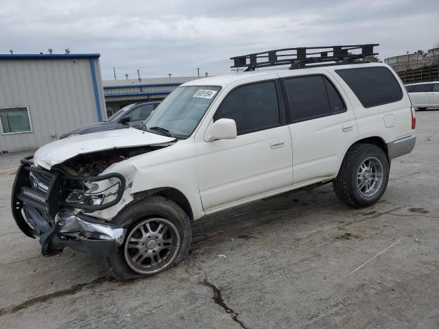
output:
[[[419,110],[439,108],[439,81],[405,85],[414,107]]]

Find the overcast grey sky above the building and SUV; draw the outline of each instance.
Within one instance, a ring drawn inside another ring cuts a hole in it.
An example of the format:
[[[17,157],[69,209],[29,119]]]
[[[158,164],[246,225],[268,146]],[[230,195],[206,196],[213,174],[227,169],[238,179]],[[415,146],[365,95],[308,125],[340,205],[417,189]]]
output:
[[[379,43],[379,58],[439,43],[439,0],[0,0],[0,53],[100,53],[104,79],[220,74],[231,56]]]

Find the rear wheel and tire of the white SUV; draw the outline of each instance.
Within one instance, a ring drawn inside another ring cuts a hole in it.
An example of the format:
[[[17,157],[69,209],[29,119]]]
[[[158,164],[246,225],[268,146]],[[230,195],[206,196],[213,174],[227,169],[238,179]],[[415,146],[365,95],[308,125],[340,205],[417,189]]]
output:
[[[333,180],[335,195],[354,208],[375,204],[389,180],[389,162],[383,150],[372,144],[354,144],[346,152]]]

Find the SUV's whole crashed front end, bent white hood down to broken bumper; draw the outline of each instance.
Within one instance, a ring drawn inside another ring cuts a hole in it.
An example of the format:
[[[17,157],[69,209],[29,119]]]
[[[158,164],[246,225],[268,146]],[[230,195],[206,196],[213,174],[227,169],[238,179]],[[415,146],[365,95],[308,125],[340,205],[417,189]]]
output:
[[[44,256],[67,246],[95,256],[114,252],[130,225],[110,223],[132,201],[137,169],[128,159],[176,143],[133,128],[88,135],[43,145],[16,173],[12,215],[24,234],[39,236]]]

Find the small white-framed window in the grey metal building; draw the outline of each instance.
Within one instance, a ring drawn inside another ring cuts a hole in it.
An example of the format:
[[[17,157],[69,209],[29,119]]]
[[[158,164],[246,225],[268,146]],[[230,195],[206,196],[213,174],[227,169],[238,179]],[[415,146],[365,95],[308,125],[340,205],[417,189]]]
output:
[[[32,132],[27,106],[0,108],[0,121],[3,134]]]

